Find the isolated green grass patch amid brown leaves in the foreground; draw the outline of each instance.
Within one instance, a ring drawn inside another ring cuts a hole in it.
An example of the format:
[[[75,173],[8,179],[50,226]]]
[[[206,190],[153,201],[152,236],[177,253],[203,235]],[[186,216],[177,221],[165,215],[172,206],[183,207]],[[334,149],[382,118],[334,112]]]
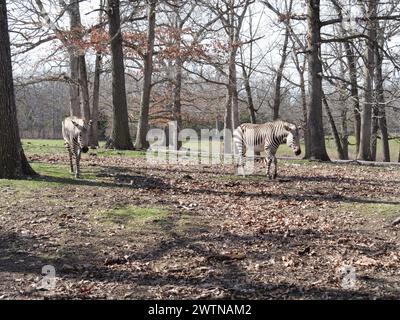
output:
[[[170,212],[165,208],[127,206],[101,212],[100,220],[106,223],[122,224],[125,227],[144,226],[149,222],[162,225],[166,223],[169,214]]]

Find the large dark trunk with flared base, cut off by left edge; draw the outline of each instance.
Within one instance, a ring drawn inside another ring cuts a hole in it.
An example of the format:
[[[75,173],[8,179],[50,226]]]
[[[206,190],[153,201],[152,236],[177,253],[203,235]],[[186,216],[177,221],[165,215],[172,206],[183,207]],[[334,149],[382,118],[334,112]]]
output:
[[[19,136],[5,0],[0,0],[0,39],[0,179],[15,179],[35,172]]]

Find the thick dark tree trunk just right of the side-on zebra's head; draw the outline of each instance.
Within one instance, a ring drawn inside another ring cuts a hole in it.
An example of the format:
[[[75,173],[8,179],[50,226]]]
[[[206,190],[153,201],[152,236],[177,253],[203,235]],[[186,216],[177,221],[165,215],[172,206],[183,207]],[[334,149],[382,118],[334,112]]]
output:
[[[310,139],[309,159],[329,161],[326,153],[322,122],[322,64],[320,60],[321,23],[320,1],[308,0],[308,78],[309,107],[307,109],[308,137]]]

